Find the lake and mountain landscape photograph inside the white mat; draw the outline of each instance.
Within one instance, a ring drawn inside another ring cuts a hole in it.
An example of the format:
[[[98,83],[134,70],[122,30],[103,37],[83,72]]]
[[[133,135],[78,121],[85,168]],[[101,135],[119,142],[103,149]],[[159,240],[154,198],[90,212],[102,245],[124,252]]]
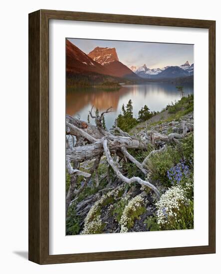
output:
[[[194,229],[194,45],[65,42],[66,235]]]

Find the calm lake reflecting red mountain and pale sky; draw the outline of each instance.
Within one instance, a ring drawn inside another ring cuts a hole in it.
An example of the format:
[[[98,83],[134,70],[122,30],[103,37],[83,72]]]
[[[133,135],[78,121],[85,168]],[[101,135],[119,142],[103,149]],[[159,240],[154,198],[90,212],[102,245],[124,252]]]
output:
[[[133,102],[134,117],[147,105],[150,111],[161,111],[171,102],[181,99],[176,84],[145,83],[122,85],[118,90],[102,90],[101,88],[68,88],[66,94],[66,113],[87,121],[88,111],[94,106],[100,112],[113,107],[113,112],[105,115],[108,129],[113,126],[116,117],[121,113],[122,105]],[[193,85],[183,85],[184,96],[194,93]],[[92,119],[90,123],[94,124]]]

